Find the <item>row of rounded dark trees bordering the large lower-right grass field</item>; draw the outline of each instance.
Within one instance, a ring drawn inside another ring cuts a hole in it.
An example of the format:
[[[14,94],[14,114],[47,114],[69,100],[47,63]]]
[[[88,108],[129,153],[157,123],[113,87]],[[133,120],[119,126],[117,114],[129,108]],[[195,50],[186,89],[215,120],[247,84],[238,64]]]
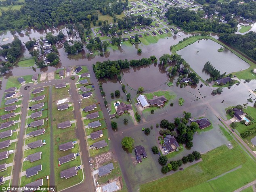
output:
[[[182,164],[198,161],[200,158],[201,154],[197,151],[193,151],[191,154],[188,154],[187,156],[179,159],[178,161],[170,161],[170,163],[168,163],[167,165],[166,163],[168,159],[166,156],[159,157],[158,162],[163,165],[161,169],[162,173],[168,173],[169,171],[177,171]]]

